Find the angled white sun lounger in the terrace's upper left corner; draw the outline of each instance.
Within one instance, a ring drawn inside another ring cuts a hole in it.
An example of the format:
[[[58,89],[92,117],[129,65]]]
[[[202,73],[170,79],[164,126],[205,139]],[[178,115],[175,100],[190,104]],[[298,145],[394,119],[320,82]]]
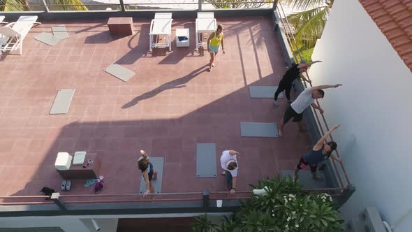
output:
[[[41,24],[36,22],[37,18],[36,15],[20,16],[16,22],[0,27],[0,55],[1,52],[14,50],[20,50],[22,55],[24,38],[34,24]]]

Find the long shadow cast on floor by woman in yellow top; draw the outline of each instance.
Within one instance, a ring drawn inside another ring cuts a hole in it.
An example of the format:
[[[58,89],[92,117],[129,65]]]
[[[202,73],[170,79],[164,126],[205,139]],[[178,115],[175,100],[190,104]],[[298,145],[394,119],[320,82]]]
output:
[[[151,97],[156,96],[157,94],[160,94],[161,92],[168,90],[168,89],[177,89],[177,88],[183,88],[185,87],[187,82],[192,80],[193,78],[196,78],[200,73],[205,72],[207,69],[207,64],[204,66],[201,66],[200,68],[197,68],[196,70],[192,71],[188,75],[185,75],[182,78],[172,80],[170,82],[164,83],[163,85],[157,87],[156,89],[153,89],[149,92],[146,92],[145,94],[142,94],[140,96],[136,96],[133,100],[129,101],[128,103],[124,104],[122,108],[131,108],[132,106],[135,106],[136,104],[139,103],[139,101],[149,99]]]

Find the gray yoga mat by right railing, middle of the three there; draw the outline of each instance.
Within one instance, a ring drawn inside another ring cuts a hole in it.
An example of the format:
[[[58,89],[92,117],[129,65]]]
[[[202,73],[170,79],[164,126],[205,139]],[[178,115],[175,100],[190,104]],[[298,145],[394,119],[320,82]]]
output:
[[[276,123],[241,122],[240,134],[243,137],[279,137]]]

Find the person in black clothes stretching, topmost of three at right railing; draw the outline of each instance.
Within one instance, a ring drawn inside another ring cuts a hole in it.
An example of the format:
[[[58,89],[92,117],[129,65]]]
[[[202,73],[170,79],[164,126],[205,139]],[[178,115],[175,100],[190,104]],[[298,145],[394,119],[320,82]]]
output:
[[[308,64],[293,64],[293,66],[291,66],[284,74],[284,78],[281,79],[279,87],[277,87],[277,91],[274,93],[274,106],[279,106],[277,96],[284,90],[286,92],[286,99],[288,99],[289,102],[292,102],[290,101],[290,89],[292,88],[293,80],[302,78],[304,81],[311,83],[311,80],[305,78],[302,73],[307,71],[309,66],[318,62],[322,61],[313,61]]]

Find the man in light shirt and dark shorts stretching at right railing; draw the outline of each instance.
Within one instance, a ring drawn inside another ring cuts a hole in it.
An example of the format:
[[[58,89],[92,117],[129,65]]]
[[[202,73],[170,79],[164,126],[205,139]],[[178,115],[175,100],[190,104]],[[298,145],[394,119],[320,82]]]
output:
[[[293,103],[291,103],[290,106],[288,106],[288,108],[285,111],[284,118],[280,120],[279,136],[284,136],[284,126],[292,117],[293,122],[297,122],[297,126],[299,126],[299,131],[304,132],[302,126],[303,111],[308,106],[312,106],[313,108],[319,110],[321,114],[323,114],[323,109],[316,105],[314,103],[314,100],[323,99],[323,96],[325,96],[325,92],[323,92],[322,89],[337,88],[339,86],[341,85],[319,85],[304,89],[304,91],[300,93],[299,96],[297,96],[297,99],[293,101]]]

